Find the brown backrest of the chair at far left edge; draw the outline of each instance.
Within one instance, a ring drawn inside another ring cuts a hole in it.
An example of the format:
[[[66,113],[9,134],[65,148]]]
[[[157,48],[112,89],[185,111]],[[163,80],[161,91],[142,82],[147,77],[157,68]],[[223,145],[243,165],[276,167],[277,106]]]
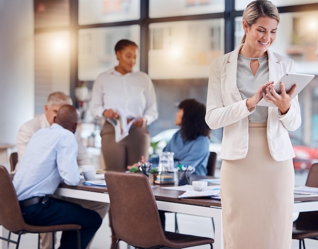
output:
[[[9,231],[23,230],[25,223],[7,169],[0,165],[0,224]]]

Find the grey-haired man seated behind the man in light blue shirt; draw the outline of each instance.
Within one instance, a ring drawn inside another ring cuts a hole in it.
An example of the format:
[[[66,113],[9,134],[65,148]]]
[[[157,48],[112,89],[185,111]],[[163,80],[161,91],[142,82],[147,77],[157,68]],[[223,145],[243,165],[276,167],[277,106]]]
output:
[[[26,122],[20,127],[17,135],[17,150],[19,161],[23,157],[24,150],[29,140],[31,139],[31,136],[42,128],[50,127],[54,123],[54,118],[56,117],[58,109],[62,105],[66,104],[73,104],[70,96],[62,92],[51,93],[47,99],[47,103],[44,106],[44,114],[35,117],[34,119]],[[83,145],[82,138],[78,130],[75,131],[75,137],[78,144],[77,164],[79,166],[90,164],[90,159],[88,158],[88,154]],[[16,169],[18,169],[18,164],[19,162],[17,163]],[[69,202],[77,203],[84,208],[94,210],[98,212],[102,218],[104,218],[109,209],[108,203],[93,202],[73,198],[67,198],[66,200]],[[51,233],[41,234],[41,249],[49,249],[53,247],[51,236]]]

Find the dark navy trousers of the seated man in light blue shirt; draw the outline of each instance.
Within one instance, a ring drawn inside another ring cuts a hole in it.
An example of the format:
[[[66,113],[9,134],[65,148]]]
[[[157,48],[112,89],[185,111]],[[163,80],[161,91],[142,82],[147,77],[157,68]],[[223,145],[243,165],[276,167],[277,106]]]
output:
[[[38,204],[21,206],[21,211],[25,223],[30,225],[81,225],[81,248],[83,249],[86,248],[102,224],[102,218],[97,212],[83,208],[78,204],[49,197],[45,197],[44,201]],[[63,231],[59,248],[77,248],[76,231]]]

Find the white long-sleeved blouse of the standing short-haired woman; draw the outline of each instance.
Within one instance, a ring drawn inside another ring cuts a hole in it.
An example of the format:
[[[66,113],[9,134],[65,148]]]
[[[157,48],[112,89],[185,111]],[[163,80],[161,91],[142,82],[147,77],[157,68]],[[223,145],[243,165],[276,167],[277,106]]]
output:
[[[121,74],[111,68],[95,80],[91,112],[100,118],[106,109],[120,108],[127,118],[143,117],[147,125],[158,118],[156,95],[148,74],[138,71]]]

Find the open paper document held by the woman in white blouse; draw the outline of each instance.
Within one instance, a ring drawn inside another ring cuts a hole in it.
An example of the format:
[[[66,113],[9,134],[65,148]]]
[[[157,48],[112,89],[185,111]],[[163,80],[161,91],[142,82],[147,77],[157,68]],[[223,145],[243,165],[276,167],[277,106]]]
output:
[[[129,129],[134,123],[136,119],[132,119],[129,123],[127,123],[126,115],[122,112],[121,109],[117,109],[117,113],[119,114],[118,119],[112,118],[107,119],[109,123],[114,126],[115,129],[115,141],[118,143],[122,139],[124,139],[129,134]]]

